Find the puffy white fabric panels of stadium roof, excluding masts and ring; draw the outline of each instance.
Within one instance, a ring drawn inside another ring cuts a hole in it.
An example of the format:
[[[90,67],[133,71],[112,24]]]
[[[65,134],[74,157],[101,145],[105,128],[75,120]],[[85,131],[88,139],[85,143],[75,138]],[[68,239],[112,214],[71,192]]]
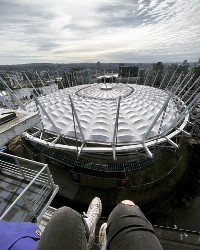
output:
[[[82,131],[87,141],[112,143],[115,127],[118,98],[121,96],[118,143],[137,143],[152,124],[168,95],[165,91],[135,84],[87,84],[59,90],[53,94],[39,97],[39,101],[54,121],[61,134],[75,137],[72,108],[69,99],[71,95]],[[34,101],[27,105],[29,111],[36,111]],[[177,116],[177,108],[173,100],[169,105],[162,122],[160,133],[164,132]],[[48,118],[40,108],[44,128],[56,132]],[[155,138],[161,124],[158,119],[153,127],[150,138]],[[76,123],[76,136],[81,134]]]

